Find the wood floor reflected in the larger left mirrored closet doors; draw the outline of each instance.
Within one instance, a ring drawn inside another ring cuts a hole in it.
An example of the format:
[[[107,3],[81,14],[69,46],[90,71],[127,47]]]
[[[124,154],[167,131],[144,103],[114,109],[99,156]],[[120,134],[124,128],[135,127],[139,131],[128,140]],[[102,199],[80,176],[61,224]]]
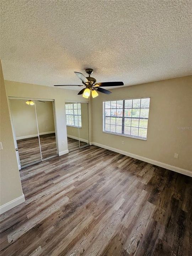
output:
[[[42,158],[57,155],[57,143],[55,133],[39,135]],[[38,137],[17,140],[17,147],[21,167],[41,161]]]

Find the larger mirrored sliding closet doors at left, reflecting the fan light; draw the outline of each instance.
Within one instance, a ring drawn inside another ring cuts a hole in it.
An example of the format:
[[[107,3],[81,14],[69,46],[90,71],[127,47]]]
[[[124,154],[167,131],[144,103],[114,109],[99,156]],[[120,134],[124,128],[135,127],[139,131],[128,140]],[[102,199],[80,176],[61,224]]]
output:
[[[58,155],[54,101],[10,98],[21,168]]]

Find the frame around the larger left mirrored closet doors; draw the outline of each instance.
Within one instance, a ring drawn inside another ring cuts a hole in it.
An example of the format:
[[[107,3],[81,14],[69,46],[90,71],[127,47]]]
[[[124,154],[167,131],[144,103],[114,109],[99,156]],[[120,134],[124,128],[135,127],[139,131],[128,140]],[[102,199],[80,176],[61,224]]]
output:
[[[35,107],[35,116],[36,116],[36,123],[37,123],[37,131],[38,131],[38,140],[39,140],[39,148],[40,148],[40,154],[41,154],[41,160],[35,161],[31,164],[25,165],[21,167],[20,164],[20,158],[19,158],[19,153],[16,150],[16,156],[17,156],[17,163],[18,163],[18,168],[19,170],[21,170],[22,168],[25,168],[27,166],[36,164],[38,162],[42,162],[45,160],[48,160],[50,158],[53,158],[55,156],[58,156],[58,136],[57,136],[57,126],[56,126],[56,114],[55,114],[55,100],[54,99],[45,99],[45,98],[34,98],[34,97],[8,97],[9,98],[9,112],[10,112],[10,119],[11,119],[11,126],[12,126],[12,133],[13,133],[13,137],[14,137],[14,143],[15,143],[15,147],[17,146],[17,140],[16,140],[16,134],[15,134],[15,127],[14,127],[14,122],[13,122],[13,117],[12,117],[12,111],[11,111],[11,103],[10,100],[32,100],[34,101],[34,107]],[[54,118],[54,126],[55,126],[55,139],[56,139],[56,144],[57,144],[57,155],[54,156],[50,156],[48,158],[43,159],[42,158],[42,153],[41,153],[41,143],[40,143],[40,138],[39,138],[39,128],[38,128],[38,121],[37,121],[37,112],[36,112],[36,101],[52,101],[53,102],[53,118]],[[16,148],[17,149],[17,148]]]

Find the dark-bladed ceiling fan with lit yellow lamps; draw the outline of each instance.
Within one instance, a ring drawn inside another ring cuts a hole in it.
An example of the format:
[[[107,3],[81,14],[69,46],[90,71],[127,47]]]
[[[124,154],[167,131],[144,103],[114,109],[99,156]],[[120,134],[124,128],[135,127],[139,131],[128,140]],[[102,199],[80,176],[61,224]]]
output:
[[[84,89],[82,89],[78,95],[82,94],[84,98],[89,98],[90,93],[93,98],[98,96],[98,92],[103,92],[105,94],[111,94],[111,91],[108,91],[106,89],[103,89],[101,87],[105,86],[121,86],[124,85],[123,82],[100,82],[97,83],[95,78],[92,78],[90,75],[93,73],[93,69],[88,68],[85,69],[86,73],[89,74],[88,77],[85,77],[82,73],[74,72],[78,78],[81,79],[83,85],[54,85],[54,86],[85,86]]]

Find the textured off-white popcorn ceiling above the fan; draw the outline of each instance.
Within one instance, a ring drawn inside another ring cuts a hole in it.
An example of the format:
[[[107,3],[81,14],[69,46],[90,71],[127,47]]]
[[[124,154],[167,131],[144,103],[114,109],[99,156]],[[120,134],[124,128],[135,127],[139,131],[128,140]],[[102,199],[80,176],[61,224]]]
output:
[[[187,76],[191,32],[188,0],[1,0],[6,80],[80,84],[73,72],[85,68],[125,86]]]

